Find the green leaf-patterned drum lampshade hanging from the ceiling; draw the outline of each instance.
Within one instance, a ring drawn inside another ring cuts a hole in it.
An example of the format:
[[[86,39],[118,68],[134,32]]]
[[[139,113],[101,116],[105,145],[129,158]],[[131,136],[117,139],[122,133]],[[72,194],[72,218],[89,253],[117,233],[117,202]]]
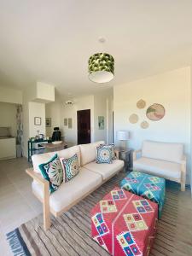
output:
[[[114,59],[107,53],[96,53],[89,59],[89,79],[96,83],[107,83],[114,78]]]

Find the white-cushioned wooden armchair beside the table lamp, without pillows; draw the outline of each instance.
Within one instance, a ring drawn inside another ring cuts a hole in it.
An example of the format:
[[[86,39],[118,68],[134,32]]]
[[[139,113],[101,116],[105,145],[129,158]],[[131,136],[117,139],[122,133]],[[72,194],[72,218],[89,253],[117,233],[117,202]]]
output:
[[[143,148],[133,152],[133,169],[181,183],[181,190],[185,190],[186,157],[182,143],[144,141]]]

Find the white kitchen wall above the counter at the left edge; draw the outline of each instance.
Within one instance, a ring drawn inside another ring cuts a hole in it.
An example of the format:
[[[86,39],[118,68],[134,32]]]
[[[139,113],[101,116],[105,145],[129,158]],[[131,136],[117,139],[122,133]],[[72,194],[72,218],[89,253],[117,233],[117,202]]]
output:
[[[0,102],[0,127],[10,127],[11,135],[16,137],[16,105]]]

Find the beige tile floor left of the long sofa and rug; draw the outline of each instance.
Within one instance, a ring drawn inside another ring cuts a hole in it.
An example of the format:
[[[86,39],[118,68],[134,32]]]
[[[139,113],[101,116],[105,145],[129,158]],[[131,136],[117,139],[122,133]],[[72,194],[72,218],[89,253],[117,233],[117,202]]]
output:
[[[0,161],[0,255],[10,256],[6,234],[42,212],[32,195],[32,179],[26,158]]]

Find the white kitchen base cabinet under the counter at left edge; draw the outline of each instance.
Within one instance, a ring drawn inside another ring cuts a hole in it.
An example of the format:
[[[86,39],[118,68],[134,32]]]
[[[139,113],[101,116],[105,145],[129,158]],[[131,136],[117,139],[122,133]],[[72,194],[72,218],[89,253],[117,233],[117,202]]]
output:
[[[6,160],[16,157],[15,137],[0,139],[0,160]]]

